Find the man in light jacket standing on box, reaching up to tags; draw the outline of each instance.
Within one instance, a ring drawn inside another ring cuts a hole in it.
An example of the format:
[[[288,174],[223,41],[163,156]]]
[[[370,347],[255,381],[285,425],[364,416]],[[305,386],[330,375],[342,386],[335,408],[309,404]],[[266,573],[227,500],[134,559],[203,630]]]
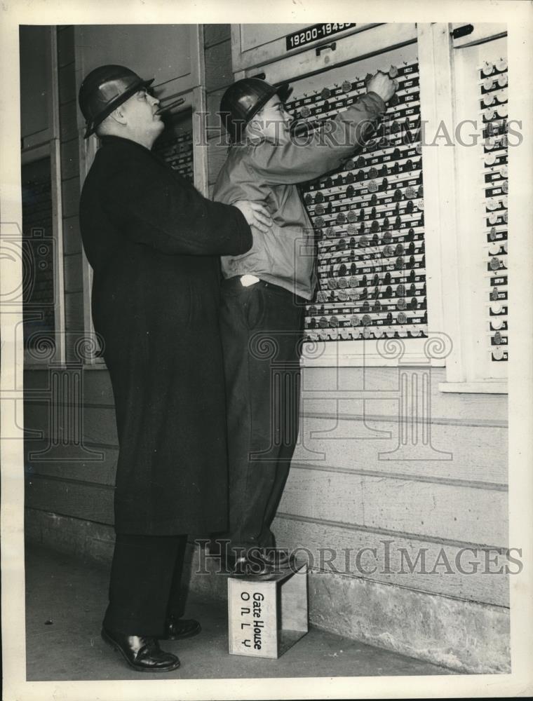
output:
[[[248,78],[222,97],[231,146],[213,198],[262,202],[273,221],[250,250],[222,257],[230,527],[217,536],[229,542],[226,554],[239,573],[263,573],[286,559],[271,523],[297,441],[304,305],[316,285],[315,234],[297,184],[362,149],[395,91],[378,72],[366,95],[304,139],[290,131],[288,86]]]

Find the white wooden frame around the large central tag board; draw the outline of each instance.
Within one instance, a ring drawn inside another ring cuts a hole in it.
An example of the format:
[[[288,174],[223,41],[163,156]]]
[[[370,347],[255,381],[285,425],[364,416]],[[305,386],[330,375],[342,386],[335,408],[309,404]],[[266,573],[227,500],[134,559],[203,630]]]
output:
[[[279,60],[262,66],[265,79],[269,83],[282,83],[284,81],[301,80],[306,75],[313,75],[343,64],[366,60],[372,55],[379,55],[385,51],[401,48],[411,43],[418,45],[419,79],[421,84],[433,86],[438,79],[438,73],[433,69],[433,51],[438,43],[438,32],[434,25],[416,25],[413,22],[403,25],[374,25],[367,27],[367,31],[360,31],[356,37],[354,49],[353,36],[344,36],[337,39],[335,51],[324,52],[317,56],[316,50],[306,48],[297,55],[288,55]],[[438,25],[443,32],[443,25]],[[444,25],[447,27],[447,25]],[[241,79],[257,75],[257,67],[245,71],[236,72],[235,79]],[[437,120],[440,108],[439,97],[435,88],[421,88],[421,118],[428,119],[430,128],[434,128],[433,122]],[[433,149],[436,151],[437,149]],[[447,339],[443,329],[443,299],[442,280],[440,272],[440,238],[442,236],[443,222],[449,217],[449,207],[442,207],[441,200],[436,196],[436,189],[431,187],[431,182],[436,179],[435,168],[441,168],[440,164],[431,158],[431,149],[423,147],[422,168],[424,178],[424,215],[426,231],[426,290],[427,310],[429,322],[429,336],[426,339],[389,339],[389,344],[381,341],[357,340],[357,341],[319,341],[323,352],[316,353],[316,343],[304,344],[302,353],[302,365],[304,367],[398,367],[398,365],[431,365],[442,367],[445,359],[439,357],[428,358],[426,350],[436,346],[447,347]],[[432,196],[433,192],[433,196]],[[433,229],[431,229],[433,226]],[[398,341],[400,343],[398,343]],[[384,348],[391,351],[384,354]]]

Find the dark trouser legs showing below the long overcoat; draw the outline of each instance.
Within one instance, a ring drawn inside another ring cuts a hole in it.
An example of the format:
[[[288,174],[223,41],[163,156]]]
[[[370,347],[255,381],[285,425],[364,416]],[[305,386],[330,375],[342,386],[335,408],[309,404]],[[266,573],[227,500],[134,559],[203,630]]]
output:
[[[187,536],[117,533],[104,627],[159,637],[168,615],[182,615],[180,583]]]

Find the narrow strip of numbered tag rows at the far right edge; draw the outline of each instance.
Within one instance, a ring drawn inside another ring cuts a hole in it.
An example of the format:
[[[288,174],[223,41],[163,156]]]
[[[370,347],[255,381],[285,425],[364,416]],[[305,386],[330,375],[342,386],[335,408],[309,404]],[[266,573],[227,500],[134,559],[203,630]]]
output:
[[[483,215],[487,308],[486,343],[494,362],[508,360],[508,140],[507,61],[483,63],[478,69],[483,118]]]

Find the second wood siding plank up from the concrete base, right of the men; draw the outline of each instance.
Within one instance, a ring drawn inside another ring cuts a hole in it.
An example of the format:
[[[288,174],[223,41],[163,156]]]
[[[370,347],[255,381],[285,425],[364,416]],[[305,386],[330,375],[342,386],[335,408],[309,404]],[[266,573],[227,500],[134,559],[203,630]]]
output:
[[[283,513],[443,540],[506,545],[507,494],[464,486],[293,469]]]

